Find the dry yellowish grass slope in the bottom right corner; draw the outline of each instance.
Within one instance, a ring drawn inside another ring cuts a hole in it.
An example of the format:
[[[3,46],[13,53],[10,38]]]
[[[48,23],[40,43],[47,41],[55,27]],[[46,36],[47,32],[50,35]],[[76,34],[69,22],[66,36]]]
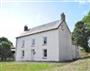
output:
[[[64,66],[52,68],[49,71],[90,71],[90,59],[77,60]]]

